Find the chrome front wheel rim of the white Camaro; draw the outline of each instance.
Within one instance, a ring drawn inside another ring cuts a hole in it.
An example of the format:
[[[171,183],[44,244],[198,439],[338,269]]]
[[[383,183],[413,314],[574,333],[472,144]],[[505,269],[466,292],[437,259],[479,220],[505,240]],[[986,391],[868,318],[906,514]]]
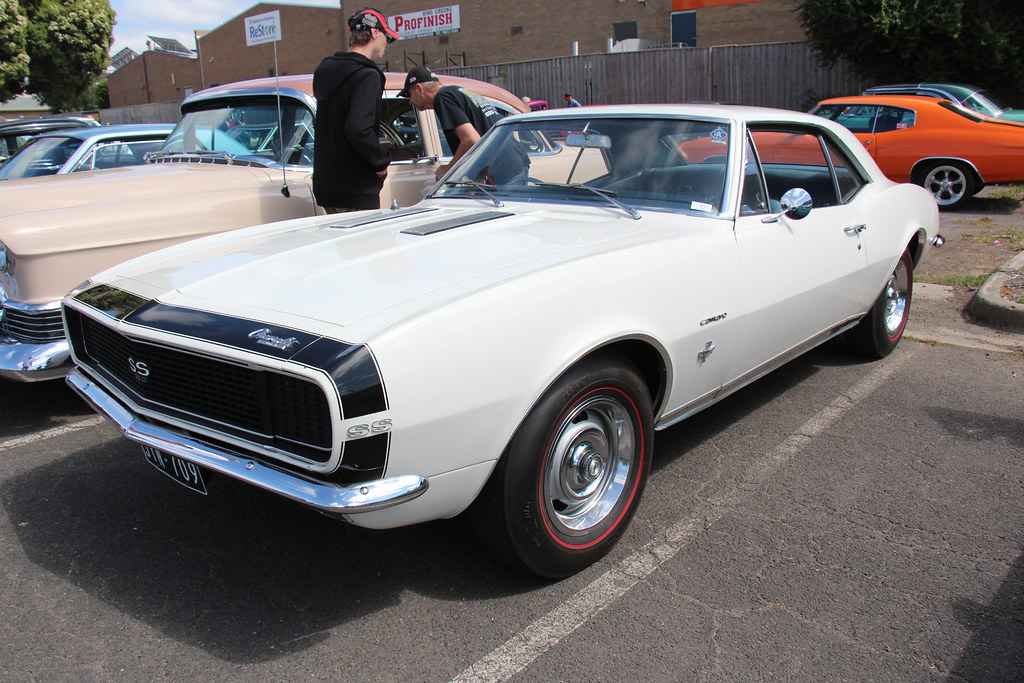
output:
[[[626,405],[605,394],[573,407],[555,430],[543,473],[548,519],[564,536],[594,530],[615,511],[637,465]]]

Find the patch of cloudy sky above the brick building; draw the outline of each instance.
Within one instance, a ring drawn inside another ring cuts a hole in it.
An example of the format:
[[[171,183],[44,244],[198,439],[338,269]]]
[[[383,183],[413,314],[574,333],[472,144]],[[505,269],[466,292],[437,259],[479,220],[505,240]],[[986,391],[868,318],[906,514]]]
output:
[[[282,5],[338,7],[338,0],[272,0]],[[146,36],[176,38],[196,49],[193,32],[212,31],[259,4],[259,0],[111,0],[117,12],[111,54],[125,47],[145,50]]]

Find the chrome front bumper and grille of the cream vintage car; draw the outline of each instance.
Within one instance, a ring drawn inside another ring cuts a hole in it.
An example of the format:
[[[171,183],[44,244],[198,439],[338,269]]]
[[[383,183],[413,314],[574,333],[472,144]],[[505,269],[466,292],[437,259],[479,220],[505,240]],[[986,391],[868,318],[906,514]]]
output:
[[[60,302],[17,304],[0,288],[0,379],[38,382],[63,377],[69,370]]]

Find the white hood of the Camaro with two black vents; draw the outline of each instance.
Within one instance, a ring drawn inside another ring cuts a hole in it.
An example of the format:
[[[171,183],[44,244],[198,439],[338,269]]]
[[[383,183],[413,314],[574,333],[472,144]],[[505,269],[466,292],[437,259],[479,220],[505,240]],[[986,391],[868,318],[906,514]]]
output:
[[[669,214],[633,220],[598,207],[513,213],[439,204],[392,216],[322,216],[213,236],[94,280],[166,304],[321,334],[361,323],[366,327],[345,333],[353,340],[503,282],[648,241],[658,228],[679,234],[678,215],[673,223]],[[407,213],[414,211],[419,213]],[[686,231],[694,234],[701,224],[713,229],[711,223],[720,222],[693,221],[694,229]]]

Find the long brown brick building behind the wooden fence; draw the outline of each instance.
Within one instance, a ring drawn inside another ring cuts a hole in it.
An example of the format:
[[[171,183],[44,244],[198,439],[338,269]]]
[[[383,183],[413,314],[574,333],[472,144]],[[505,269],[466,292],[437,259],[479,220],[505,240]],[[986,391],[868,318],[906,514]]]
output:
[[[197,40],[194,56],[143,52],[111,74],[111,105],[180,101],[204,87],[272,76],[274,44],[248,47],[245,17],[278,10],[282,75],[308,74],[344,49],[345,20],[366,5],[407,39],[388,48],[391,71],[543,59],[671,45],[712,46],[802,41],[800,0],[339,0],[339,7],[258,3]],[[433,25],[433,26],[431,26]],[[198,27],[199,28],[199,27]]]

